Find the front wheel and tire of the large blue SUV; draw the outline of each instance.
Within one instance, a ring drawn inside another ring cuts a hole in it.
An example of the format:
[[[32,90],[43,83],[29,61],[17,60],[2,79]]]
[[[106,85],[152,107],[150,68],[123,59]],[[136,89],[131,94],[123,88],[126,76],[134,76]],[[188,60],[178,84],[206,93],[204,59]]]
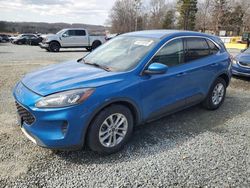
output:
[[[108,124],[112,126],[110,121],[111,118],[114,122],[118,119],[119,121],[113,124],[113,128],[108,128]],[[123,123],[120,124],[121,122]],[[100,154],[111,154],[121,150],[132,135],[133,123],[133,116],[127,107],[122,105],[111,105],[105,108],[90,124],[87,134],[88,147],[92,151]],[[119,128],[115,129],[117,126]],[[123,137],[121,135],[123,135]]]

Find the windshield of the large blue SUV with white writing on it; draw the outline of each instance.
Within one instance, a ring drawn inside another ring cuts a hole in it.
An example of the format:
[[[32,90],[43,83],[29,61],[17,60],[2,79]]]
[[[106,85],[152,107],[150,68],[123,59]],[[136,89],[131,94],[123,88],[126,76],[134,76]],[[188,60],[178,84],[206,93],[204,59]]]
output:
[[[152,38],[116,37],[85,56],[83,61],[111,71],[128,71],[136,67],[157,42]]]

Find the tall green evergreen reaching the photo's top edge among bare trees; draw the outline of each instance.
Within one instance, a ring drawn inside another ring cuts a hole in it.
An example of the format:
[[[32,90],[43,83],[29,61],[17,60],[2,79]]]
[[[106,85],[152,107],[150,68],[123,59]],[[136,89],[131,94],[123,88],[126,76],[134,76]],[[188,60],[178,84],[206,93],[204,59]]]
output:
[[[180,29],[194,30],[197,8],[197,0],[178,0],[177,10],[180,14],[178,25]]]

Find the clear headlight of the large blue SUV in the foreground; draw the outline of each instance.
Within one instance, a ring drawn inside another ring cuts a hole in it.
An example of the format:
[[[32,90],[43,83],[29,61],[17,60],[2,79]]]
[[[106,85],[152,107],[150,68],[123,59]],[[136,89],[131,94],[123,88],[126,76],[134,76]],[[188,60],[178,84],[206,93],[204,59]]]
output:
[[[60,108],[82,103],[92,93],[93,88],[76,89],[55,93],[42,98],[36,103],[37,108]]]

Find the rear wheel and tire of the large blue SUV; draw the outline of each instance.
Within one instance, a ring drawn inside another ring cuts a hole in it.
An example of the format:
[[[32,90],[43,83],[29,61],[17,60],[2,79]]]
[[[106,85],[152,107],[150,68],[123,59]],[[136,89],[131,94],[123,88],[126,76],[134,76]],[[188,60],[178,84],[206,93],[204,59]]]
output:
[[[218,109],[224,102],[227,85],[223,78],[217,78],[212,84],[206,99],[202,105],[208,110]]]

